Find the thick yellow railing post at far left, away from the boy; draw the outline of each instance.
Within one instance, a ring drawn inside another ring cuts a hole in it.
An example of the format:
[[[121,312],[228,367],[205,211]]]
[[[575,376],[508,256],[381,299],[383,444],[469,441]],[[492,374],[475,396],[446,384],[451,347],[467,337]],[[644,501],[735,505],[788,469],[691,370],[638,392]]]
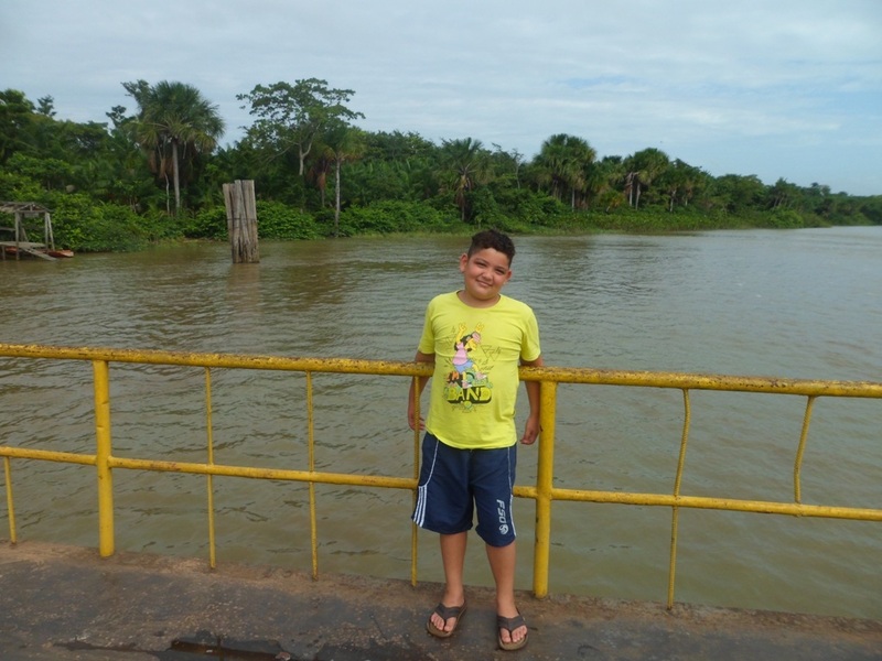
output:
[[[98,552],[114,554],[114,476],[110,469],[110,369],[107,360],[92,362],[95,373],[95,464],[98,469]]]

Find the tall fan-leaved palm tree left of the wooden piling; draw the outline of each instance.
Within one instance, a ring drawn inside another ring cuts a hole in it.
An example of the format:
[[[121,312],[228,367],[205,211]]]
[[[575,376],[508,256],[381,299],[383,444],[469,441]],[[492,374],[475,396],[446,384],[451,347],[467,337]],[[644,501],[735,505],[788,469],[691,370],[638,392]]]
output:
[[[162,80],[154,86],[144,80],[122,86],[140,106],[137,138],[150,153],[150,169],[165,178],[171,171],[174,183],[174,212],[181,213],[181,164],[200,152],[215,148],[224,133],[217,106],[198,89],[184,83]]]

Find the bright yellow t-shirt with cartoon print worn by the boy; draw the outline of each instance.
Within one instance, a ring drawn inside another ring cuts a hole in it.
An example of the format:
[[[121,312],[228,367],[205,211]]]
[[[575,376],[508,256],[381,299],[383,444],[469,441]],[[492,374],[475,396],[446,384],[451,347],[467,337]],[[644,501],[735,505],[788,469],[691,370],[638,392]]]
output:
[[[528,305],[502,296],[491,307],[472,307],[456,292],[440,294],[426,310],[419,350],[434,354],[429,432],[467,449],[517,443],[518,367],[541,353]]]

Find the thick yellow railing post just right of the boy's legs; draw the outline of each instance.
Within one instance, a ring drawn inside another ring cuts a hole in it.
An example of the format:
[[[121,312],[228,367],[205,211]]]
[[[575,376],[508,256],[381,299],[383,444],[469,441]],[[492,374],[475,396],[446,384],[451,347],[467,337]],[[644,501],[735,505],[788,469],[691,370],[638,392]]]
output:
[[[533,561],[533,592],[548,596],[548,567],[551,552],[551,489],[555,486],[556,381],[539,383],[539,464],[536,474],[536,548]]]

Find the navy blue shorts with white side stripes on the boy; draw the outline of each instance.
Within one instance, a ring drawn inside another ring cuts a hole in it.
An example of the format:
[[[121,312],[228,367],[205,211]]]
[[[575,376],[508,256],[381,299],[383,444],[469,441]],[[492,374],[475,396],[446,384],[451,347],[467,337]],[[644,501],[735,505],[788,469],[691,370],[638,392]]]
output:
[[[417,507],[413,521],[441,534],[472,529],[491,546],[515,541],[512,489],[517,445],[495,449],[461,449],[426,433],[422,438]]]

